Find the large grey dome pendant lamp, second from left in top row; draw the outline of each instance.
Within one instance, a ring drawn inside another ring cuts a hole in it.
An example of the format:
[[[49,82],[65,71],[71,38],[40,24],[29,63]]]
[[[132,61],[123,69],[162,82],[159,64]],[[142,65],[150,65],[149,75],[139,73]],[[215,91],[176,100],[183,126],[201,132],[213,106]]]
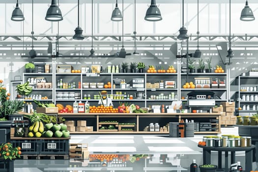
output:
[[[50,22],[57,22],[63,20],[61,10],[57,6],[56,0],[52,0],[51,5],[48,8],[45,20]]]

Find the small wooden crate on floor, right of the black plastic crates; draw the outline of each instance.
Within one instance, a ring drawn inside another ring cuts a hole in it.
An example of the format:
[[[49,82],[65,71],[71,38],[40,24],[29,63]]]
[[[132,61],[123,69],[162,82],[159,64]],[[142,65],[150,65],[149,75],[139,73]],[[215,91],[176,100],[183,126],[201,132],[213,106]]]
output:
[[[89,159],[89,151],[87,143],[70,143],[70,158]]]

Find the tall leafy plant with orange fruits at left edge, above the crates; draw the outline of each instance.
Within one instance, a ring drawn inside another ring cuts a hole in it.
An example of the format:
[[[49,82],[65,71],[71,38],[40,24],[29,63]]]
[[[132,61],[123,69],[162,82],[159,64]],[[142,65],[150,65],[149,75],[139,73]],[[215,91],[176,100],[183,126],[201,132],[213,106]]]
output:
[[[10,93],[7,93],[6,88],[0,80],[0,120],[7,120],[7,116],[21,111],[24,107],[24,102],[20,100],[10,100]]]

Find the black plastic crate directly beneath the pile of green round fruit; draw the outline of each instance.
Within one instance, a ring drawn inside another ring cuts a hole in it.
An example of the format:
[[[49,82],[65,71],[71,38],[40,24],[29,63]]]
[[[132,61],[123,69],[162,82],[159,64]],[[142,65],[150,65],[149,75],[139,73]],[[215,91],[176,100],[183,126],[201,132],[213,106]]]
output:
[[[43,140],[40,154],[69,154],[69,140]]]

